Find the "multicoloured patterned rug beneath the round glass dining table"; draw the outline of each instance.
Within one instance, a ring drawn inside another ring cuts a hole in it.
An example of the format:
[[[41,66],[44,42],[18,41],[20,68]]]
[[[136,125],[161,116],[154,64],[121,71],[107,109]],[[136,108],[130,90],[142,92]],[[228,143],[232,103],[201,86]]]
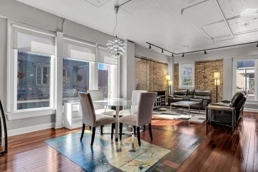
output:
[[[138,146],[137,137],[134,136],[113,142],[110,134],[96,134],[94,145],[90,147],[91,133],[88,130],[82,142],[79,132],[50,139],[45,143],[87,172],[172,172],[202,143],[203,138],[170,131],[170,137],[161,141],[159,137],[163,130],[154,127],[154,142],[141,140],[142,146]],[[143,133],[147,134],[148,131]]]

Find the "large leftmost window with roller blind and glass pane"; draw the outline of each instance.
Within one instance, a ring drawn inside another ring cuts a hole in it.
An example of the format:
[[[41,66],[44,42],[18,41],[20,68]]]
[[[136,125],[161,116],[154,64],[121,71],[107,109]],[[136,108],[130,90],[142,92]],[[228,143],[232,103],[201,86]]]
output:
[[[8,112],[54,107],[55,34],[11,25]]]

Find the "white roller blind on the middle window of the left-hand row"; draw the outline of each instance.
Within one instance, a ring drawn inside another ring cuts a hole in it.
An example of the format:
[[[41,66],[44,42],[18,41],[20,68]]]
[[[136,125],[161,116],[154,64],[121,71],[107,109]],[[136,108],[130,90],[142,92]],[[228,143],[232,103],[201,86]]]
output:
[[[95,61],[96,46],[90,43],[80,43],[70,39],[63,39],[63,56],[87,61]]]

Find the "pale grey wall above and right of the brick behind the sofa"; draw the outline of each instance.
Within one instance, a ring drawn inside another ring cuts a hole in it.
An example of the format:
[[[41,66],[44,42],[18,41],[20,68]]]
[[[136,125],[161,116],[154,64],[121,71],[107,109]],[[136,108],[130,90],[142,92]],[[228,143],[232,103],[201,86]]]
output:
[[[256,45],[257,44],[250,44],[230,49],[207,51],[207,55],[204,55],[203,52],[197,54],[185,54],[185,57],[175,57],[174,62],[182,63],[223,58],[223,98],[230,99],[232,96],[232,58],[258,56],[258,48]],[[247,102],[245,108],[258,109],[258,103]]]

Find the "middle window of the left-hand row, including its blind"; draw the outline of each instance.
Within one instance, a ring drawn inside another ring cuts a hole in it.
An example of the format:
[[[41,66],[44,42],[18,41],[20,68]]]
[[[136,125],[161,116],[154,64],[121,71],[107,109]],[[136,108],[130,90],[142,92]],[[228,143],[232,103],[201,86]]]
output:
[[[91,78],[96,46],[92,43],[63,39],[63,102],[78,100],[78,92],[93,87]]]

